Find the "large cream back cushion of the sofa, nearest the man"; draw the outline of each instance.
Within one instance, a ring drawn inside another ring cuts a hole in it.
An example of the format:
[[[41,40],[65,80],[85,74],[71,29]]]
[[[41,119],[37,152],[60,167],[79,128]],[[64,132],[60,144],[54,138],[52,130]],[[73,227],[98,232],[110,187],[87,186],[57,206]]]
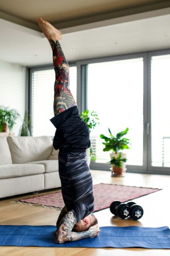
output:
[[[50,136],[15,136],[7,137],[12,163],[27,163],[47,160],[52,151]]]

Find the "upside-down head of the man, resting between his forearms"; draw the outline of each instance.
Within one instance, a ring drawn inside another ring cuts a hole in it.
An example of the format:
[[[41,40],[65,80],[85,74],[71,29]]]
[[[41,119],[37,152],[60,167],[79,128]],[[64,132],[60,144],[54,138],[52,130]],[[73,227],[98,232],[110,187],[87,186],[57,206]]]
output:
[[[88,216],[86,216],[85,218],[83,218],[82,220],[78,221],[72,231],[74,232],[83,232],[89,229],[89,227],[96,225],[98,223],[96,217],[94,216],[93,213],[89,214]]]

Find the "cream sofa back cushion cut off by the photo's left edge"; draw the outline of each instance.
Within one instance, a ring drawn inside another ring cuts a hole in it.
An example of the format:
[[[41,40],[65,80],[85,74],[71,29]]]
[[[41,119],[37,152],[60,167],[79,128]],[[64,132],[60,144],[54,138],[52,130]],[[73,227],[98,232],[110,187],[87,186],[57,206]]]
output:
[[[11,164],[11,152],[6,137],[0,136],[0,165]]]

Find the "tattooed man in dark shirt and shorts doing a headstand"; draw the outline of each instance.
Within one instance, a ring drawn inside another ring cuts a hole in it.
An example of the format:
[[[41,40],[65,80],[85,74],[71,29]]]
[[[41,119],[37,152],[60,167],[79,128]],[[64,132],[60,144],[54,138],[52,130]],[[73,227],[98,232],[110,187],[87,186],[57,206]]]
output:
[[[65,207],[57,220],[55,242],[95,237],[100,230],[93,214],[93,184],[86,158],[86,149],[91,145],[88,126],[80,118],[69,88],[69,65],[59,43],[61,32],[41,17],[37,21],[51,45],[56,74],[54,117],[50,121],[57,128],[53,146],[59,149],[59,177]]]

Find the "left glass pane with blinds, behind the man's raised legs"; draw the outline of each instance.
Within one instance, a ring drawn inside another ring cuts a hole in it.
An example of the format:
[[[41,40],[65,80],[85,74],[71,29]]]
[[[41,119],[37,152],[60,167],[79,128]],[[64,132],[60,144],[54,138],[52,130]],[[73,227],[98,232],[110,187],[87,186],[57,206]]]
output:
[[[53,136],[54,69],[34,71],[32,75],[33,136]],[[70,90],[77,101],[77,67],[70,67]]]

